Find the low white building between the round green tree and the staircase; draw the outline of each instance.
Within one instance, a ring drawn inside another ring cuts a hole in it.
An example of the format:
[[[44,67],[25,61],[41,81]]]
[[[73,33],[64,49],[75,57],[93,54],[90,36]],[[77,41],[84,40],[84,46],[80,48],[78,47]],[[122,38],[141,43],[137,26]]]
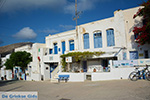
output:
[[[32,45],[26,45],[22,47],[15,48],[15,52],[17,51],[26,51],[29,52],[32,56],[32,62],[27,66],[26,70],[26,80],[36,80],[40,81],[42,76],[44,76],[44,68],[43,68],[43,48],[45,48],[45,44],[34,43]],[[45,77],[45,76],[44,76]]]

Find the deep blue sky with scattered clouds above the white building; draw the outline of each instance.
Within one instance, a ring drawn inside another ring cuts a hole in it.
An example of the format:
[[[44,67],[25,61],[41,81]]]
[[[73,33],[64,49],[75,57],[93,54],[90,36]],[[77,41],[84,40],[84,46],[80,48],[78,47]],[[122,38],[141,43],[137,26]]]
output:
[[[143,0],[78,0],[78,25],[113,16]],[[146,0],[144,0],[146,1]],[[75,0],[0,0],[0,46],[44,43],[49,34],[75,29]]]

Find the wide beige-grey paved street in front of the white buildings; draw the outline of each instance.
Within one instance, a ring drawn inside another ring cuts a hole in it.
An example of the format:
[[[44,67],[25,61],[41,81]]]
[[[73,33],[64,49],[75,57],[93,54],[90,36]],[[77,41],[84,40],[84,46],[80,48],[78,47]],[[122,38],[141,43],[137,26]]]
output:
[[[38,91],[39,100],[150,100],[150,81],[114,80],[79,83],[9,81],[0,91]]]

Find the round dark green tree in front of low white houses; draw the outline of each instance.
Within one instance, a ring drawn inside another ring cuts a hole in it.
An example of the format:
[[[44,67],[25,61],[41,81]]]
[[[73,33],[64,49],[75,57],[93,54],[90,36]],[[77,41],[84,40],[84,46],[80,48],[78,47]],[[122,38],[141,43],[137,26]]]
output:
[[[26,51],[13,52],[10,58],[7,59],[5,66],[6,69],[13,69],[15,66],[20,66],[23,71],[25,71],[27,65],[32,61],[30,53]]]

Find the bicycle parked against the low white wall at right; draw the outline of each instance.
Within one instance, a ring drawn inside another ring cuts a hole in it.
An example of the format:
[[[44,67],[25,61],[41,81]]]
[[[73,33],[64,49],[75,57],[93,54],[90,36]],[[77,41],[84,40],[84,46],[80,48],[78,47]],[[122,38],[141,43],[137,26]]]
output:
[[[135,71],[131,72],[129,75],[129,79],[131,81],[137,81],[138,79],[147,79],[150,81],[150,71],[148,70],[148,65],[143,70],[139,70],[139,68],[135,68]]]

